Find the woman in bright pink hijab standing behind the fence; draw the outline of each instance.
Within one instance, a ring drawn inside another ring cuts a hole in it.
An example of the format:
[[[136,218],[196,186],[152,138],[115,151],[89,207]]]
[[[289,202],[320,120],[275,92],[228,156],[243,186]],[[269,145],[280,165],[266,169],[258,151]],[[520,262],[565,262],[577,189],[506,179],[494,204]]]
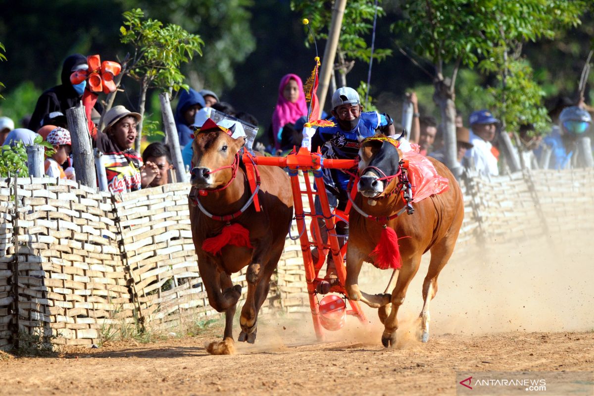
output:
[[[301,116],[307,115],[305,93],[301,78],[296,74],[287,74],[279,84],[279,100],[272,115],[274,148],[280,149],[279,131],[287,123],[295,123]]]

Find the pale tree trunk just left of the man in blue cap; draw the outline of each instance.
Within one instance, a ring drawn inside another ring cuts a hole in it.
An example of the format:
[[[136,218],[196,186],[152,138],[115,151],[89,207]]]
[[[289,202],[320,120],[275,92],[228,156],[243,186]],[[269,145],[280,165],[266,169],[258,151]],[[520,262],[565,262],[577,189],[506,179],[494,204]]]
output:
[[[441,123],[443,124],[445,165],[458,178],[462,175],[462,165],[458,162],[458,148],[456,140],[456,106],[454,94],[448,81],[435,82],[433,100],[440,108]]]

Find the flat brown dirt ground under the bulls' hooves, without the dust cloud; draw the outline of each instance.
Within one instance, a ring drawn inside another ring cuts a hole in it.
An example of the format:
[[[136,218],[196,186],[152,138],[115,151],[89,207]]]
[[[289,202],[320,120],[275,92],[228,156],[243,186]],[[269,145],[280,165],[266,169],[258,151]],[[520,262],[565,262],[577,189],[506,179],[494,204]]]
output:
[[[140,346],[70,350],[62,358],[0,362],[1,394],[369,394],[456,393],[456,371],[592,370],[594,332],[441,335],[384,350],[333,342],[240,347],[210,356],[184,338]],[[460,386],[460,385],[457,385]]]

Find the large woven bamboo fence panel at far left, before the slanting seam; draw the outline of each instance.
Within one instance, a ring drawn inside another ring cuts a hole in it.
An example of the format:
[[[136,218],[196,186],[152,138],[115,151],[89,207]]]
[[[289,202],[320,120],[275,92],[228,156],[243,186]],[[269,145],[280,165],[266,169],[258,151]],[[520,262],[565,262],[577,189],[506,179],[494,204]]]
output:
[[[129,321],[134,308],[112,199],[69,180],[18,185],[20,330],[42,328],[58,344],[96,343],[102,326]]]

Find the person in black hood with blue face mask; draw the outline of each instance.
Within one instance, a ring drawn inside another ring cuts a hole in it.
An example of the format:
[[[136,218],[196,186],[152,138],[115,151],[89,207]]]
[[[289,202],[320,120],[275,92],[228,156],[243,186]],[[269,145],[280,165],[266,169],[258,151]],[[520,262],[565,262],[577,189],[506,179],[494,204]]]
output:
[[[76,106],[80,102],[87,81],[85,80],[80,84],[72,85],[70,75],[79,69],[87,69],[88,67],[87,57],[80,53],[75,53],[65,59],[60,75],[62,84],[49,88],[37,100],[35,110],[29,121],[29,129],[31,131],[37,131],[41,128],[43,118],[49,113],[61,112],[62,114],[66,114],[67,109]],[[99,114],[103,112],[103,106],[99,100],[95,103],[94,108]]]

